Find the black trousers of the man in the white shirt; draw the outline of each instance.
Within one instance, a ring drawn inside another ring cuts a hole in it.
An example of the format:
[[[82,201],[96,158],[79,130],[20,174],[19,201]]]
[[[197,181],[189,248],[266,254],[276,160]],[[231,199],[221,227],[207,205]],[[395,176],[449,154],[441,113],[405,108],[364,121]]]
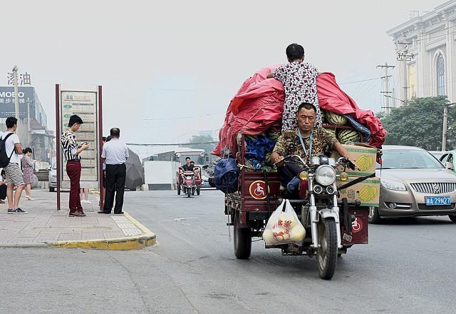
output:
[[[122,213],[123,206],[123,192],[125,191],[125,176],[127,175],[127,168],[125,163],[121,165],[106,165],[105,170],[105,206],[103,211],[110,213],[113,208],[114,195],[115,207],[114,213]]]

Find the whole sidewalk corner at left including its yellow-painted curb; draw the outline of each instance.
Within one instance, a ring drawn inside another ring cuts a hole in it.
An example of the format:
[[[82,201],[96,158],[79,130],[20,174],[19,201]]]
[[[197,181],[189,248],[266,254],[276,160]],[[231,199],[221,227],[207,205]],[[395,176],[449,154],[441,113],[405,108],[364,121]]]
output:
[[[0,204],[0,247],[66,247],[105,250],[135,250],[155,245],[155,234],[125,212],[123,215],[99,214],[98,195],[89,194],[91,204],[82,204],[86,217],[68,217],[68,193],[44,189],[32,191],[35,201],[22,193],[19,207],[26,215],[7,213]],[[128,211],[128,208],[125,208]]]

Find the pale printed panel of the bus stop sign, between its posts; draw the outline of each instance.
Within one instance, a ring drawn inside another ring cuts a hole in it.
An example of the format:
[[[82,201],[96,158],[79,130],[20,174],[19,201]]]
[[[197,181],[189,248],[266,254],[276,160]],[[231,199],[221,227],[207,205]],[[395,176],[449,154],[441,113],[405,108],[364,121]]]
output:
[[[76,133],[78,143],[87,142],[90,146],[81,153],[81,183],[86,187],[95,188],[98,182],[98,93],[96,91],[61,91],[61,130],[68,128],[68,120],[73,114],[83,119],[83,124]],[[66,169],[66,161],[61,163]],[[66,171],[63,172],[62,183],[69,183]],[[92,184],[90,184],[92,183]]]

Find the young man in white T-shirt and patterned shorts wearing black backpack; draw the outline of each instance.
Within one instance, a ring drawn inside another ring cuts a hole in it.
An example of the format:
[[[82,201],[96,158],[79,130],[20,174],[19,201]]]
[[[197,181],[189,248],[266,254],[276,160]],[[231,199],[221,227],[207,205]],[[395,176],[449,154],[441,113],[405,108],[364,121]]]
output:
[[[22,154],[21,141],[16,133],[17,118],[10,116],[6,118],[6,131],[0,138],[0,168],[3,167],[6,173],[6,197],[8,198],[8,213],[27,213],[19,207],[22,190],[24,190],[24,178],[22,176],[21,162],[19,155]],[[16,186],[16,193],[13,190]]]

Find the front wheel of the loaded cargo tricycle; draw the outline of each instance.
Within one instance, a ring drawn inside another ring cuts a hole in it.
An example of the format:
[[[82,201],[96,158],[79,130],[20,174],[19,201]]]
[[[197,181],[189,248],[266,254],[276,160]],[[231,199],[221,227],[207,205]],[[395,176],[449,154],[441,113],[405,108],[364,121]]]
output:
[[[321,219],[318,223],[318,242],[316,252],[318,275],[323,279],[333,278],[337,263],[337,230],[334,218]]]

